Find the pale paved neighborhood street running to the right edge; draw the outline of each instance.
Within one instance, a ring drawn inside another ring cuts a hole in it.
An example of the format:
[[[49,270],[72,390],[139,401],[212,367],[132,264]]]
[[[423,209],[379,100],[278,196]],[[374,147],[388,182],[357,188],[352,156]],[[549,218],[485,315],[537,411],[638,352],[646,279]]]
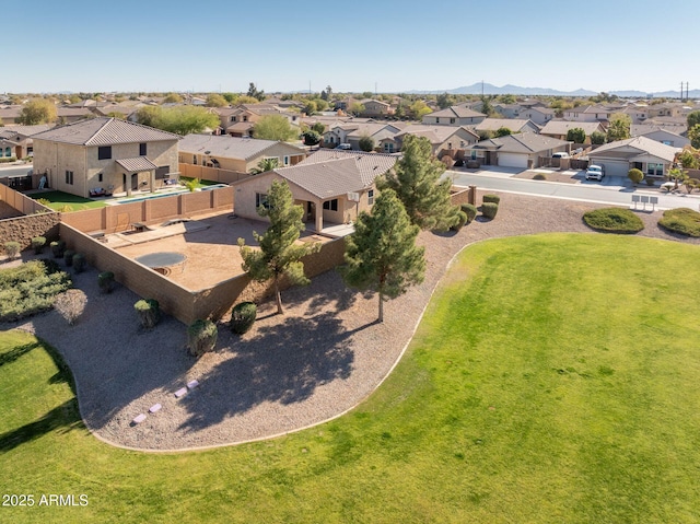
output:
[[[587,202],[609,203],[614,206],[633,207],[632,195],[658,197],[655,209],[690,208],[698,210],[700,206],[700,194],[687,195],[685,189],[681,193],[663,195],[656,190],[649,190],[646,186],[632,188],[629,181],[622,177],[606,177],[604,184],[582,183],[567,184],[544,181],[528,181],[513,178],[517,170],[487,171],[476,173],[465,173],[447,171],[445,177],[453,179],[456,186],[477,186],[479,189],[517,193],[521,195],[534,195],[549,198],[561,198],[565,200],[582,200]],[[626,184],[627,183],[627,184]],[[638,205],[643,209],[643,205]],[[646,209],[652,209],[646,205]]]

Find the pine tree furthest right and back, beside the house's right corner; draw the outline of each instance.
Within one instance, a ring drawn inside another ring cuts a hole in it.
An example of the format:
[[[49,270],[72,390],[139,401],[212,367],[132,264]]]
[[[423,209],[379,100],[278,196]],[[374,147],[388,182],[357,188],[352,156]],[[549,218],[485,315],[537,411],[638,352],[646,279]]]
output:
[[[440,181],[445,164],[432,158],[430,141],[407,135],[401,153],[394,171],[377,179],[378,189],[394,189],[411,223],[421,230],[446,231],[455,225],[459,208],[450,199],[452,183]]]

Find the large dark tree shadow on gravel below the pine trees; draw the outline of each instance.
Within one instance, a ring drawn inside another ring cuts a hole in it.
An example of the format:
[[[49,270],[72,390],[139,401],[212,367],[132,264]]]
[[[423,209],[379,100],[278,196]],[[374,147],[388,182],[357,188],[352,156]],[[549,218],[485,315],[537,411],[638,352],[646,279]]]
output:
[[[199,380],[198,395],[183,399],[190,416],[179,428],[197,431],[264,403],[301,403],[318,386],[348,379],[354,361],[352,336],[365,327],[347,330],[327,312],[285,318],[260,328],[252,339],[232,339],[232,358]]]

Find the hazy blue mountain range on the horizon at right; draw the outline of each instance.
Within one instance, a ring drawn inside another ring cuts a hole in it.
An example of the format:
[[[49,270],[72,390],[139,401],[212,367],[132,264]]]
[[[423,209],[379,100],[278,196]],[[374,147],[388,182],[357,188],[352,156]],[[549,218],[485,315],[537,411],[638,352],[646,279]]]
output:
[[[407,91],[408,94],[440,94],[440,93],[448,93],[448,94],[488,94],[488,95],[497,95],[497,94],[520,94],[520,95],[546,95],[546,96],[595,96],[598,93],[595,91],[579,89],[576,91],[559,91],[548,88],[521,88],[520,85],[503,85],[499,88],[498,85],[493,85],[490,83],[481,83],[477,82],[471,85],[466,85],[463,88],[452,89],[452,90],[443,90],[443,91]],[[648,93],[644,91],[609,91],[609,94],[615,94],[617,96],[622,96],[627,98],[646,98],[649,96],[653,96],[654,98],[679,98],[680,91],[661,91],[654,93]],[[690,98],[700,97],[700,90],[692,90],[688,92],[688,96]]]

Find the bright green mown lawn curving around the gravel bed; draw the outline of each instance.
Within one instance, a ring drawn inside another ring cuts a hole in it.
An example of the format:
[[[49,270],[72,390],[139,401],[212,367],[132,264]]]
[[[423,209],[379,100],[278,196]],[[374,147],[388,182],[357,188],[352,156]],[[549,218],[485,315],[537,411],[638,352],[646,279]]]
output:
[[[0,491],[89,498],[0,521],[698,522],[698,255],[617,235],[476,244],[366,403],[209,452],[103,444],[49,353],[0,334]]]

